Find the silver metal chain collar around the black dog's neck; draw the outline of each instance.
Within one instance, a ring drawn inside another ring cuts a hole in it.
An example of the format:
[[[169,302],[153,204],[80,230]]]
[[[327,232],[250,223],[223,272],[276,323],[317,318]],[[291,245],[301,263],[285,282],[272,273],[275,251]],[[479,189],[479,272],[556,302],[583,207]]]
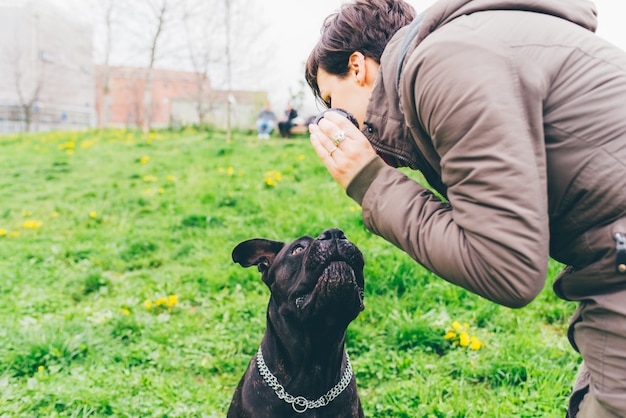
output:
[[[285,391],[283,385],[278,383],[276,376],[274,376],[267,368],[265,360],[263,359],[261,347],[259,347],[259,351],[256,353],[256,364],[259,368],[259,373],[263,377],[263,380],[265,380],[265,383],[274,389],[276,395],[280,399],[288,404],[291,404],[293,410],[299,414],[305,412],[307,409],[321,408],[322,406],[328,405],[333,399],[339,396],[345,388],[348,387],[348,384],[352,380],[352,365],[350,364],[350,357],[348,357],[348,353],[346,352],[346,370],[343,372],[343,376],[341,376],[339,382],[317,400],[310,401],[304,396],[293,396]]]

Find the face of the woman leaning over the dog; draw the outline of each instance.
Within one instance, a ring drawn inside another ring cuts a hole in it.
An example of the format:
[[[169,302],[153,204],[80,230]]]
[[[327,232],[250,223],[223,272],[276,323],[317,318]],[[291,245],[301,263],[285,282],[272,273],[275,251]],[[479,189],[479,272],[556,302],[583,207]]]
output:
[[[373,83],[370,85],[360,81],[358,74],[352,70],[345,76],[338,76],[320,67],[317,71],[317,85],[320,89],[320,98],[329,107],[352,113],[359,125],[363,125]]]

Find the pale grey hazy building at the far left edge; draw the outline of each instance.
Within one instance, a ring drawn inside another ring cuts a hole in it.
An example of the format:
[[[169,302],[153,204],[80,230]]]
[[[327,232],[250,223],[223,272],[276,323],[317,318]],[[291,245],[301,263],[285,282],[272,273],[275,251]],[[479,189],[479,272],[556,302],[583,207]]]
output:
[[[36,0],[0,0],[0,132],[95,125],[92,28]]]

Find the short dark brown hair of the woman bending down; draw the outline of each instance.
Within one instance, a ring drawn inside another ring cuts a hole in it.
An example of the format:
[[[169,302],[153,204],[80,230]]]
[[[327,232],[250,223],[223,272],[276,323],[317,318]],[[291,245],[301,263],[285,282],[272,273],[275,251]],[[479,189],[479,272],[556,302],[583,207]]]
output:
[[[317,85],[320,67],[329,74],[345,76],[348,59],[356,51],[380,64],[389,40],[414,17],[415,9],[403,0],[356,0],[328,16],[306,62],[304,76],[315,97],[323,102]]]

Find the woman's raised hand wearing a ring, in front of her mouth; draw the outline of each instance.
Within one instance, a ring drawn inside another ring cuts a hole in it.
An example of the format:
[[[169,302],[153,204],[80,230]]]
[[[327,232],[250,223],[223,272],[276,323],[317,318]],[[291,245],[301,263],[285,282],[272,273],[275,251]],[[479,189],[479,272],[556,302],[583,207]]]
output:
[[[344,190],[376,156],[365,135],[336,112],[326,112],[317,125],[309,125],[309,132],[315,152]]]

